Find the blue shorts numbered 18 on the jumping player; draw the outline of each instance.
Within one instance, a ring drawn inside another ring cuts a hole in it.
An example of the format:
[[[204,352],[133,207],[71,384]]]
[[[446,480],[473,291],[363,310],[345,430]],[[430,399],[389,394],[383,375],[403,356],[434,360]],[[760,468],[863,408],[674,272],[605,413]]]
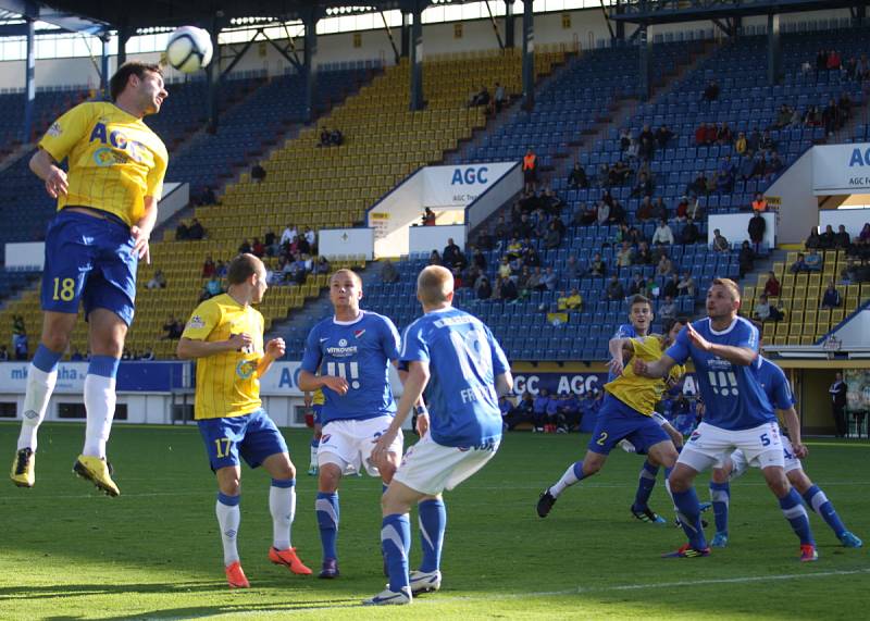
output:
[[[75,314],[84,305],[86,319],[102,308],[129,325],[139,258],[133,251],[129,226],[100,213],[105,218],[63,209],[48,225],[42,310]]]

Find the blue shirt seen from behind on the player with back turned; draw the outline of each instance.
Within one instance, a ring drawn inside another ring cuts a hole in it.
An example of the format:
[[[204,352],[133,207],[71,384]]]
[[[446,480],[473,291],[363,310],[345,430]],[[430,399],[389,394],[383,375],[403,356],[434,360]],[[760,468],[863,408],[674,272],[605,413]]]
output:
[[[510,365],[481,320],[455,308],[431,311],[408,326],[400,360],[428,362],[432,439],[463,448],[500,439],[495,378]]]

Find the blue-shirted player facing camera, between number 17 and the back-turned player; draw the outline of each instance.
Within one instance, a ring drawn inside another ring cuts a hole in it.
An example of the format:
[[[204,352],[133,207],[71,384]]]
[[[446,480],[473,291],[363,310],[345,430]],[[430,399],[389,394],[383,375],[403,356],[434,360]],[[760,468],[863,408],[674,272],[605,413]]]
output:
[[[401,459],[402,438],[393,438],[380,460],[374,443],[396,413],[389,386],[389,363],[399,358],[399,334],[387,318],[360,310],[362,281],[351,270],[330,280],[335,315],[308,335],[299,388],[323,390],[322,432],[318,448],[315,510],[323,544],[320,577],[338,576],[338,483],[344,474],[361,472],[389,483]]]

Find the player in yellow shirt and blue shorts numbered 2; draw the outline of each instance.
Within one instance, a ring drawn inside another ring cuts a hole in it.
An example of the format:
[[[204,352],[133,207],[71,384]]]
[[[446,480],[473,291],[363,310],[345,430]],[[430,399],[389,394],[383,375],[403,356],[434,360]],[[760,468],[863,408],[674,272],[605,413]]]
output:
[[[676,321],[666,336],[621,338],[618,345],[641,360],[658,360],[684,326],[684,321]],[[670,469],[676,463],[676,447],[652,414],[666,387],[679,380],[685,369],[675,367],[667,380],[650,380],[636,375],[632,367],[623,368],[622,356],[619,356],[619,364],[611,364],[611,370],[616,378],[605,384],[605,401],[586,457],[569,465],[562,477],[540,494],[537,514],[542,518],[549,514],[566,488],[601,470],[610,451],[622,439],[631,442],[638,452],[646,452],[654,464]]]

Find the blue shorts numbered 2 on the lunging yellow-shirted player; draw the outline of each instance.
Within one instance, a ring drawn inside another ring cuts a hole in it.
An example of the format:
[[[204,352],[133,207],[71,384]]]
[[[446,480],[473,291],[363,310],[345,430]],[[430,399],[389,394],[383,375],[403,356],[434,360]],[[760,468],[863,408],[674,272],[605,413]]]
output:
[[[608,455],[621,439],[632,443],[637,452],[646,452],[652,445],[670,440],[671,436],[651,417],[637,412],[607,394],[598,412],[598,422],[592,433],[588,449]]]

